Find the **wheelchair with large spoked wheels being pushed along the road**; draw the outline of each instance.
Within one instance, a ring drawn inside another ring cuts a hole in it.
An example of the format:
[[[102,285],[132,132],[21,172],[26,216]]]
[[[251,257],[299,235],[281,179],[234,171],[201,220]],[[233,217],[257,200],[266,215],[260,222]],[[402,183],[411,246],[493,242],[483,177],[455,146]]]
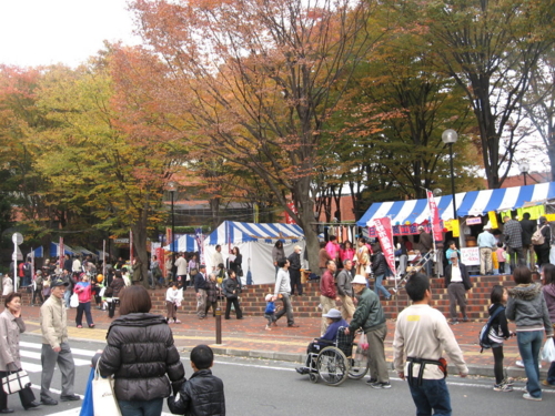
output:
[[[320,351],[309,353],[309,378],[312,383],[322,382],[339,386],[347,378],[361,379],[370,369],[369,349],[354,342],[353,334],[345,334],[345,327],[337,331],[337,339]]]

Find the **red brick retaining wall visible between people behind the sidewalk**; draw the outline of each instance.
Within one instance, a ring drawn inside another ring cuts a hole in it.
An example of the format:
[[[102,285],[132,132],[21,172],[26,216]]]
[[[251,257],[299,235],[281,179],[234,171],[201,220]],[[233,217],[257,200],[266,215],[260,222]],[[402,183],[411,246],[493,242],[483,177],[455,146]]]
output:
[[[537,280],[538,276],[535,276]],[[487,308],[490,306],[490,293],[492,287],[496,284],[505,287],[513,287],[514,282],[511,275],[498,276],[471,276],[473,287],[467,292],[467,315],[471,319],[486,319],[488,317]],[[384,281],[384,286],[393,292],[393,281]],[[243,287],[241,294],[241,306],[243,314],[246,316],[263,316],[265,308],[264,297],[269,293],[273,293],[273,285],[253,285]],[[159,288],[151,292],[152,296],[152,312],[165,314],[165,290]],[[23,305],[31,303],[31,295],[23,293]],[[443,277],[432,278],[432,306],[440,310],[445,316],[448,316],[448,296],[447,290],[444,287]],[[93,301],[94,302],[94,301]],[[303,296],[293,296],[292,298],[293,312],[299,317],[321,317],[322,313],[317,307],[320,304],[320,282],[311,281],[303,285]],[[384,308],[385,317],[387,319],[396,318],[398,312],[408,306],[408,296],[404,290],[400,290],[398,294],[391,301],[382,298],[382,306]],[[281,306],[281,302],[276,302]],[[225,302],[220,305],[222,311],[225,308]],[[194,290],[188,287],[183,292],[183,303],[180,308],[182,313],[195,313],[196,297]]]

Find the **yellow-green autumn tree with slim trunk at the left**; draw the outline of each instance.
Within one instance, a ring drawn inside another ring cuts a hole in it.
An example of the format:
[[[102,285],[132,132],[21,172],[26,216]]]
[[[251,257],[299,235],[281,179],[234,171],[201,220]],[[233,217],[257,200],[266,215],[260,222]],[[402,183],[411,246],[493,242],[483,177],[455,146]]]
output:
[[[165,216],[162,193],[175,149],[120,123],[105,57],[77,70],[51,68],[38,94],[38,105],[57,124],[29,140],[50,179],[49,192],[73,210],[90,210],[98,229],[113,234],[131,229],[147,276],[148,230]],[[148,286],[147,278],[142,283]]]

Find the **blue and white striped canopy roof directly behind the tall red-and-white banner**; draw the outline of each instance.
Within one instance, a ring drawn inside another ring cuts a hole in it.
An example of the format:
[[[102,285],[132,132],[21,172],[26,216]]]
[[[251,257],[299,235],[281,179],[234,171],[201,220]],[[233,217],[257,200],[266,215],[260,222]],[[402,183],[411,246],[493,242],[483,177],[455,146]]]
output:
[[[466,193],[455,194],[457,209],[462,205]],[[444,195],[435,197],[440,219],[443,221],[453,220],[453,196]],[[359,226],[367,226],[374,219],[390,217],[392,225],[421,224],[430,220],[430,209],[427,200],[408,200],[395,202],[376,202],[372,204],[364,215],[356,222]]]

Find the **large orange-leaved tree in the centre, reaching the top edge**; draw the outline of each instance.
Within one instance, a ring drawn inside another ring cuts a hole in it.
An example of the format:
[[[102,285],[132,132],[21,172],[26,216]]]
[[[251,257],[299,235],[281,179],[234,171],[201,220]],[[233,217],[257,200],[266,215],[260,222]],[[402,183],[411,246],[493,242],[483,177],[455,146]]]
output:
[[[317,264],[313,179],[322,133],[349,73],[373,43],[367,1],[132,2],[167,64],[167,95],[192,116],[195,145],[251,170],[304,230]],[[175,109],[174,109],[175,112]],[[189,132],[184,131],[184,135]],[[297,213],[286,207],[292,197]]]

